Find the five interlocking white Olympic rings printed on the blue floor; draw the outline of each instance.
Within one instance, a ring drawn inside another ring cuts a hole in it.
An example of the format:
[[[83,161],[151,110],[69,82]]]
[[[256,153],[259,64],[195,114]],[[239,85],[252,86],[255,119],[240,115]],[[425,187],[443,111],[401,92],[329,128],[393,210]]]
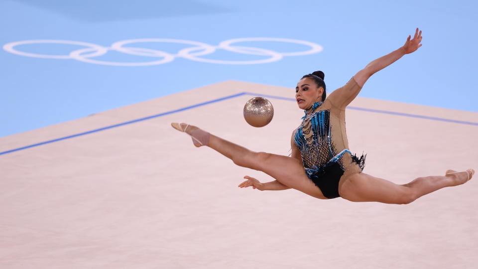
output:
[[[270,41],[270,42],[285,42],[285,43],[295,43],[309,46],[310,49],[297,52],[277,52],[269,49],[249,47],[249,46],[235,46],[233,44],[238,42],[250,42],[250,41]],[[179,50],[177,54],[171,54],[165,51],[150,49],[150,48],[141,48],[126,46],[134,43],[144,43],[144,42],[154,42],[154,43],[179,43],[192,45],[191,47],[184,48]],[[67,55],[50,55],[50,54],[37,54],[17,50],[15,47],[19,45],[27,44],[69,44],[69,45],[78,45],[84,46],[86,48],[80,48],[74,51],[71,51]],[[271,63],[279,61],[284,56],[299,56],[299,55],[309,55],[322,51],[322,46],[316,43],[288,39],[288,38],[274,38],[274,37],[245,37],[245,38],[235,38],[225,40],[219,43],[217,46],[209,45],[202,42],[190,41],[190,40],[181,40],[181,39],[167,39],[167,38],[142,38],[142,39],[129,39],[121,40],[113,43],[110,47],[104,47],[101,45],[80,42],[80,41],[70,41],[70,40],[23,40],[11,42],[3,45],[3,49],[7,52],[18,54],[27,57],[35,58],[48,58],[48,59],[74,59],[81,62],[100,64],[100,65],[113,65],[113,66],[148,66],[148,65],[159,65],[172,62],[175,58],[181,57],[192,61],[204,62],[204,63],[213,63],[213,64],[262,64],[262,63]],[[202,58],[202,56],[209,55],[217,51],[218,49],[226,50],[229,52],[239,53],[239,54],[248,54],[248,55],[257,55],[257,56],[267,56],[265,59],[261,60],[244,60],[244,61],[228,61],[228,60],[216,60],[216,59],[207,59]],[[102,61],[96,60],[95,57],[105,55],[108,51],[117,51],[120,53],[125,53],[129,55],[136,56],[145,56],[153,58],[151,61],[145,62],[111,62],[111,61]],[[158,59],[159,58],[159,59]]]

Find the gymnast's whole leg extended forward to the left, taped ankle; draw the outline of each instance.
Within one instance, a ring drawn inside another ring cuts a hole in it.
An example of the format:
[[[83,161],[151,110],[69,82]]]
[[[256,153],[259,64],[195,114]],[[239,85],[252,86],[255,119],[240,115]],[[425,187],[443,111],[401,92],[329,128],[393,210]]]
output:
[[[186,124],[181,124],[181,127],[184,130]],[[262,171],[288,187],[319,199],[327,199],[320,189],[307,177],[302,163],[295,158],[266,152],[255,152],[214,134],[198,130],[195,126],[189,126],[186,133],[202,136],[200,137],[202,143],[204,144],[207,141],[207,144],[204,145],[230,158],[239,166]],[[197,141],[194,141],[194,144],[200,146]]]

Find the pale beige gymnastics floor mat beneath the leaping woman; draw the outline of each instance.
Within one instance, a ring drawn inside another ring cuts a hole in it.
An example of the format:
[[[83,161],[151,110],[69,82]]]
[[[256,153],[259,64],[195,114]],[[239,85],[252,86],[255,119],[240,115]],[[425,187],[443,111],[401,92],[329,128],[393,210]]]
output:
[[[268,126],[245,123],[253,95],[242,94],[1,153],[243,92],[269,95]],[[275,97],[293,99],[294,90],[227,81],[0,138],[0,268],[478,268],[476,178],[408,205],[242,189],[244,175],[272,178],[194,147],[169,125],[287,155],[303,111]],[[365,98],[347,111],[364,172],[399,184],[476,169],[477,123],[477,113]]]

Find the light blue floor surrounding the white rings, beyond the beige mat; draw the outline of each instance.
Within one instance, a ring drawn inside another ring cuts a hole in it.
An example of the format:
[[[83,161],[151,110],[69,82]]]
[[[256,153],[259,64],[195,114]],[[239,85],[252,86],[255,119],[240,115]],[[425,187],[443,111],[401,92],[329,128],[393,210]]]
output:
[[[0,136],[225,80],[290,87],[293,97],[302,75],[322,70],[330,93],[370,61],[402,46],[416,27],[423,30],[423,46],[373,75],[359,96],[478,112],[473,82],[478,71],[476,10],[475,1],[444,0],[0,0],[1,46],[33,39],[109,46],[134,38],[217,45],[239,37],[278,37],[306,40],[324,48],[317,54],[284,57],[267,64],[220,65],[176,58],[142,67],[31,58],[1,49]],[[306,48],[277,42],[238,45],[283,52]],[[166,43],[136,46],[170,53],[187,47]],[[40,44],[17,48],[68,54],[81,47]],[[224,51],[204,57],[261,59]],[[151,60],[118,52],[96,59]],[[178,108],[181,106],[178,100]]]

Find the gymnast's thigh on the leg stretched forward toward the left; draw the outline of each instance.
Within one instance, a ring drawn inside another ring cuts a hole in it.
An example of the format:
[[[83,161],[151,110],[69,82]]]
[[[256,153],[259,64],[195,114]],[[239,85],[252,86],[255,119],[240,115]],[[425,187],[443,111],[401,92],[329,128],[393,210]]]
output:
[[[320,189],[305,174],[304,166],[298,159],[266,152],[257,153],[257,170],[280,183],[319,199],[327,199]]]

